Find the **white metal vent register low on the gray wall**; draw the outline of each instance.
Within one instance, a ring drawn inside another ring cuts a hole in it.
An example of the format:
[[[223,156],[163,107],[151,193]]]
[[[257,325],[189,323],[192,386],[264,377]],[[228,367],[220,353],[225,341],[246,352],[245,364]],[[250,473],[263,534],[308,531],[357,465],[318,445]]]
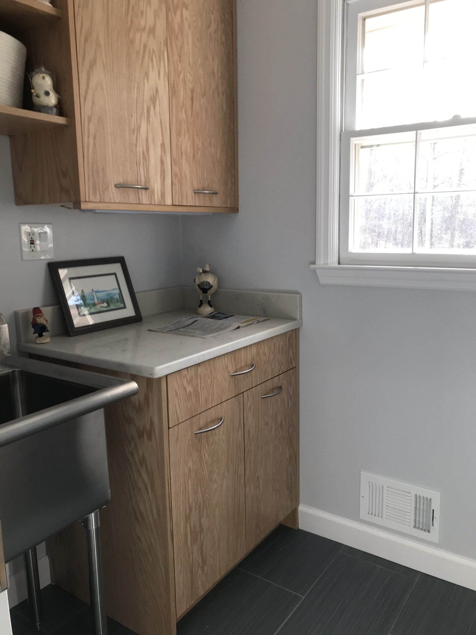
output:
[[[369,523],[439,542],[439,491],[360,472],[360,518]]]

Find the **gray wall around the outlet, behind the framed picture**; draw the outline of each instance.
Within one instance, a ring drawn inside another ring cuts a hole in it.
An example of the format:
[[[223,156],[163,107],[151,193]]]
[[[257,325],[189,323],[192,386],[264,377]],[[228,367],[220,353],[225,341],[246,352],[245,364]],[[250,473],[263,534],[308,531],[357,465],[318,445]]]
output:
[[[46,262],[20,257],[20,222],[53,223],[55,260],[123,255],[136,291],[182,282],[180,218],[16,207],[10,145],[8,137],[0,137],[0,312],[8,320],[13,347],[13,311],[56,302]]]

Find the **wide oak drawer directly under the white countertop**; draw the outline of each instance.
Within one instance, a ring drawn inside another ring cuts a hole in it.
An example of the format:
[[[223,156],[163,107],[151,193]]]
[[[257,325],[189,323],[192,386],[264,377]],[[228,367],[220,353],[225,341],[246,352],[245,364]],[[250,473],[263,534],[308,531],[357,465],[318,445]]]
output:
[[[296,332],[288,331],[172,373],[167,377],[169,427],[294,366]]]

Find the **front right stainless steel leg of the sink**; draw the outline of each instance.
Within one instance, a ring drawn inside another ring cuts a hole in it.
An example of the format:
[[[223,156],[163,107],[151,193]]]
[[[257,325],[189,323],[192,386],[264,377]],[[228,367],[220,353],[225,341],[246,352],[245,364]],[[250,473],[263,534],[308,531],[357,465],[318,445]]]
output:
[[[94,635],[107,635],[107,621],[104,606],[101,542],[99,538],[99,511],[95,511],[83,520],[88,539],[89,559],[89,596],[93,611]]]

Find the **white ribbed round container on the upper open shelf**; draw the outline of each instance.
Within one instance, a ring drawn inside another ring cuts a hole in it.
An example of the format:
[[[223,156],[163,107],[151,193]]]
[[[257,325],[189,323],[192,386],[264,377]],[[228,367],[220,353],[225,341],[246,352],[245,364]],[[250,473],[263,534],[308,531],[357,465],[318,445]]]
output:
[[[22,107],[26,60],[26,47],[0,31],[0,104]]]

